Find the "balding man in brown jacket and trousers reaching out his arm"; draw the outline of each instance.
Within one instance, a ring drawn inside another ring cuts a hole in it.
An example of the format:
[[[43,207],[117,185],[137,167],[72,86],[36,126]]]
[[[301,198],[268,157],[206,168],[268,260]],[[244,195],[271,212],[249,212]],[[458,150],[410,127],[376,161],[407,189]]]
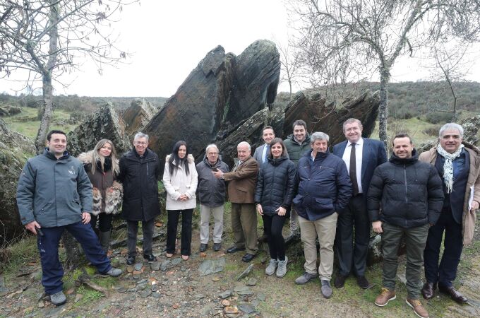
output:
[[[232,230],[234,231],[234,245],[227,249],[227,253],[234,253],[246,249],[241,259],[249,262],[255,257],[258,250],[257,243],[257,214],[253,192],[258,175],[258,163],[251,157],[251,147],[246,141],[236,146],[239,161],[232,172],[212,171],[215,177],[229,181],[228,195],[232,202]]]

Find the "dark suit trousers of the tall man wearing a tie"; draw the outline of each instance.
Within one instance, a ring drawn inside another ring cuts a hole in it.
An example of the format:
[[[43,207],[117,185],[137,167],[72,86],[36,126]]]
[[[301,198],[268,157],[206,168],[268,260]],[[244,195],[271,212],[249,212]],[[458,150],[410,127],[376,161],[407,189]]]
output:
[[[340,275],[348,276],[352,270],[356,276],[365,275],[370,227],[364,194],[352,197],[337,220],[335,249]]]

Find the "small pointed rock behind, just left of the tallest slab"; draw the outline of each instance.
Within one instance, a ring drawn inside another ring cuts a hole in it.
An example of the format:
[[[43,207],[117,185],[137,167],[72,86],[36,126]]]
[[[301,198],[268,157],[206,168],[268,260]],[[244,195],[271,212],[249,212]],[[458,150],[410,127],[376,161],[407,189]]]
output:
[[[130,140],[133,140],[132,137],[138,131],[143,130],[156,112],[157,109],[145,99],[133,100],[131,102],[130,107],[121,114],[121,118],[124,119],[125,123],[125,132]]]

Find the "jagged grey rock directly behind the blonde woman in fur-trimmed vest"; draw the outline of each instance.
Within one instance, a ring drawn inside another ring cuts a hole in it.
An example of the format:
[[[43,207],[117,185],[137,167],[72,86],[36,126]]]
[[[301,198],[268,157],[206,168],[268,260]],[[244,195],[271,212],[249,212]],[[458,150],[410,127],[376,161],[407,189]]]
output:
[[[131,148],[125,134],[123,119],[116,114],[112,104],[100,107],[83,123],[68,134],[67,150],[71,155],[79,155],[92,150],[100,139],[110,139],[118,154]]]

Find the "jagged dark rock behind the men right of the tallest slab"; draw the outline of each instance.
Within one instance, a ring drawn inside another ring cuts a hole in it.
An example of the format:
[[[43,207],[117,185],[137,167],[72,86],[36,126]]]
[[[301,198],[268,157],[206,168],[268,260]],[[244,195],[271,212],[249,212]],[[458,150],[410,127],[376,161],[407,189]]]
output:
[[[362,135],[368,137],[375,129],[375,120],[378,117],[380,96],[378,92],[366,91],[358,98],[347,100],[338,109],[320,93],[305,95],[300,92],[289,102],[285,109],[284,136],[292,134],[292,124],[296,119],[303,119],[307,124],[308,132],[323,131],[330,136],[330,145],[344,141],[342,124],[349,118],[359,119],[364,126]]]

